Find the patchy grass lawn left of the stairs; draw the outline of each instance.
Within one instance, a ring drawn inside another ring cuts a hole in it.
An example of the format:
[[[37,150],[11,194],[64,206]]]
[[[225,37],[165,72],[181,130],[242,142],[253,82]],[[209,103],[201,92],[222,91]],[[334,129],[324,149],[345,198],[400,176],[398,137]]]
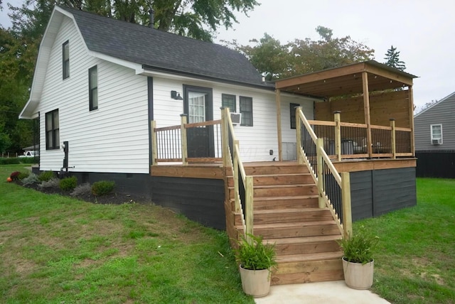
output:
[[[15,170],[0,167],[1,303],[254,303],[225,232],[4,182]]]

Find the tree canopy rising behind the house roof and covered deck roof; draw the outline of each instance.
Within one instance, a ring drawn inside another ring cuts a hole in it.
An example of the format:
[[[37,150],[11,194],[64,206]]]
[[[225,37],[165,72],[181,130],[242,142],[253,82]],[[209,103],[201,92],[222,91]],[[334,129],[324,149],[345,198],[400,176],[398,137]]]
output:
[[[319,40],[295,39],[282,44],[264,33],[263,38],[250,40],[253,45],[239,45],[236,41],[230,45],[245,54],[267,80],[373,59],[374,50],[350,36],[333,38],[333,31],[323,26],[318,26],[316,32]]]

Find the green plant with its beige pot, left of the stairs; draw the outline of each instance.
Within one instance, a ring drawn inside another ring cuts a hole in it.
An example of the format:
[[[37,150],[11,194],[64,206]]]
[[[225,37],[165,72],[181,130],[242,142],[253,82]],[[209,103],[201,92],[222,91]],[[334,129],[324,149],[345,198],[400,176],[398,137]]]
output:
[[[275,245],[264,244],[262,237],[252,234],[237,241],[235,259],[240,264],[242,288],[247,295],[263,297],[270,291],[272,266],[275,266]]]

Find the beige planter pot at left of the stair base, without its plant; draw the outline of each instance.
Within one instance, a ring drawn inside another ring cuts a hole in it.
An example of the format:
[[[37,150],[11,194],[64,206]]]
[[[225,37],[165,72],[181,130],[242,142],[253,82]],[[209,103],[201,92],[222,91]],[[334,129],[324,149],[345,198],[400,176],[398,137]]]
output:
[[[244,269],[240,265],[240,278],[242,278],[242,288],[247,295],[255,298],[264,297],[270,291],[270,271]]]

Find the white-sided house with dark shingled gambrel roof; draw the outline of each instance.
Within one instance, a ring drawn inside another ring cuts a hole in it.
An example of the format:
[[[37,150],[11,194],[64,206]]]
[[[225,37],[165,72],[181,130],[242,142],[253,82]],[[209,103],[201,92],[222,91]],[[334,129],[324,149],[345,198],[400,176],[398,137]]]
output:
[[[314,100],[284,94],[283,141],[296,141],[290,104],[303,106],[311,119]],[[274,86],[262,81],[244,55],[55,7],[20,118],[40,120],[40,170],[69,168],[84,181],[103,175],[122,184],[134,174],[149,177],[149,121],[157,127],[180,124],[183,113],[190,123],[219,119],[222,106],[242,114],[235,129],[244,161],[272,161],[277,156]],[[68,165],[63,165],[63,143]],[[133,188],[141,180],[134,178]],[[149,194],[143,187],[141,192]]]

